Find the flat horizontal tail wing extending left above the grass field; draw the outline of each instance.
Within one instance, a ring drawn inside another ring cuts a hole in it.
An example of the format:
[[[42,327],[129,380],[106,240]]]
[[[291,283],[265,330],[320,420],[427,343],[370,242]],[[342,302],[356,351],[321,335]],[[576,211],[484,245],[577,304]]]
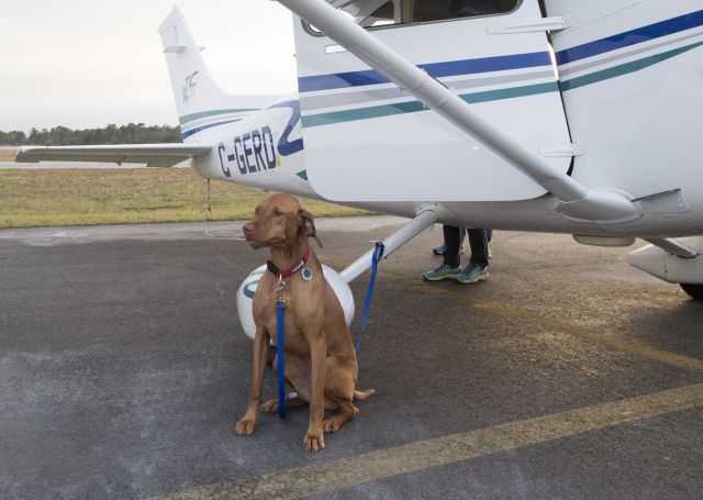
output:
[[[100,146],[23,146],[15,162],[102,162],[172,167],[188,158],[204,156],[212,147],[191,144],[114,144]]]

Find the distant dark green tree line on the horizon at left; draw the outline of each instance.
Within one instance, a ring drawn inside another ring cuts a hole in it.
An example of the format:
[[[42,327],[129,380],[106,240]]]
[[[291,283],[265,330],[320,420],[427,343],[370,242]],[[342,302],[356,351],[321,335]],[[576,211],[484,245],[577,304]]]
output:
[[[0,131],[0,145],[4,146],[74,146],[80,144],[149,144],[179,143],[180,129],[169,125],[146,126],[144,123],[127,125],[110,124],[103,129],[72,130],[66,126],[32,129],[24,131]]]

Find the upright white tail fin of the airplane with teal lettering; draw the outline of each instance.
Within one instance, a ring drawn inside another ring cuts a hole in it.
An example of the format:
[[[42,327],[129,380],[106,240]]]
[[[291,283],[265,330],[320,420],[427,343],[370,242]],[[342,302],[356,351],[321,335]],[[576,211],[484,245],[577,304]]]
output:
[[[270,103],[268,96],[233,96],[220,88],[205,67],[186,18],[177,7],[158,27],[176,99],[183,142],[201,142],[205,131],[242,120]]]

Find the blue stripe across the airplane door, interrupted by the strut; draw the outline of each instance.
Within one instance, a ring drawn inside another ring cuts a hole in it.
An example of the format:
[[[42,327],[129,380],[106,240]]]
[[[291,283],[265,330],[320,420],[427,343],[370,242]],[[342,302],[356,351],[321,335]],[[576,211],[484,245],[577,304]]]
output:
[[[551,66],[551,59],[548,52],[481,57],[478,59],[448,60],[443,63],[423,64],[419,67],[427,71],[427,74],[434,78],[443,78],[539,66]],[[300,77],[298,78],[298,88],[301,92],[311,92],[314,90],[332,90],[347,87],[388,84],[389,81],[390,80],[380,73],[373,69],[368,69],[365,71],[347,71],[332,75]]]

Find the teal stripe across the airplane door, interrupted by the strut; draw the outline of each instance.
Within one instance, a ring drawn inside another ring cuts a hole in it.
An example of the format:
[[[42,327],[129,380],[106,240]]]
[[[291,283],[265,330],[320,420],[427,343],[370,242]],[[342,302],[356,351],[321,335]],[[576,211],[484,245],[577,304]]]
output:
[[[465,93],[459,97],[469,104],[479,102],[500,101],[516,97],[536,96],[539,93],[557,92],[559,88],[556,82],[537,84],[525,87],[510,89],[488,90],[484,92]],[[373,118],[391,116],[393,114],[415,113],[425,111],[425,107],[420,101],[398,102],[394,104],[373,105],[369,108],[358,108],[354,110],[332,111],[330,113],[311,114],[302,118],[302,125],[305,129],[335,123],[353,122],[357,120],[369,120]]]

